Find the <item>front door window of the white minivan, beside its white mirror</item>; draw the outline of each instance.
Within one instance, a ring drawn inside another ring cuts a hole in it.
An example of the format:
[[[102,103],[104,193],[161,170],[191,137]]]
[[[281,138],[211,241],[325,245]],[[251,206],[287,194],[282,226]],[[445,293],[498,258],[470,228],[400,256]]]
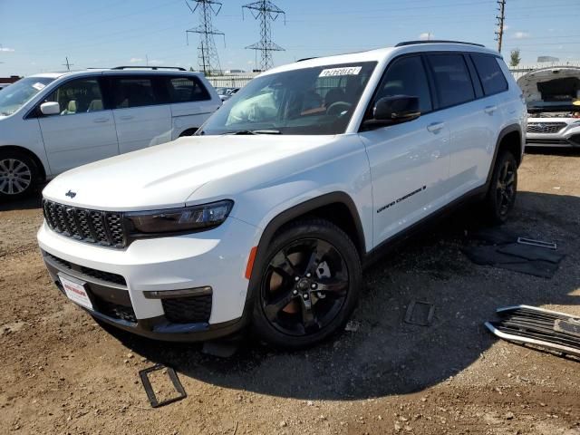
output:
[[[54,91],[47,102],[58,102],[61,115],[102,111],[102,94],[97,79],[79,79],[66,82]]]

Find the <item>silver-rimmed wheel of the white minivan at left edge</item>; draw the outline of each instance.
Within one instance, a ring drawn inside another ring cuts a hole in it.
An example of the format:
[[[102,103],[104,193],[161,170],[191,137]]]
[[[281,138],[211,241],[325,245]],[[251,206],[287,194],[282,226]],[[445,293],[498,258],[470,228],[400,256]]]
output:
[[[38,186],[38,167],[18,150],[0,151],[0,200],[30,195]]]

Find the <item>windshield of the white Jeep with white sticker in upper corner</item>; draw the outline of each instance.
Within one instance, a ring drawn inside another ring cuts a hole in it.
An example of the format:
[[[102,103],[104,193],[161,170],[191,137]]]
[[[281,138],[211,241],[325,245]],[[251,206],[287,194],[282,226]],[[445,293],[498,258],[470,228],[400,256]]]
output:
[[[375,66],[342,63],[257,77],[197,134],[343,133]]]

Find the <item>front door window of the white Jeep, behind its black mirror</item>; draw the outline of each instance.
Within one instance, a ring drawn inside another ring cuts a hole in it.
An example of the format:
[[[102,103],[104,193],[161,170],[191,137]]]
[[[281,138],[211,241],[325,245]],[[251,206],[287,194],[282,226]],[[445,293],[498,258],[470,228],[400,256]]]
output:
[[[420,56],[403,57],[389,65],[376,100],[393,95],[419,97],[420,112],[432,110],[429,82]]]

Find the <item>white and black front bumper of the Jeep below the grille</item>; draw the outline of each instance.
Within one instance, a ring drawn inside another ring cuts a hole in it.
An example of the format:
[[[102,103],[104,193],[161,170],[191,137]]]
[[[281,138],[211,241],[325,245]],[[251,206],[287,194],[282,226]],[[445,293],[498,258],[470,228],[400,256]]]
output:
[[[138,240],[121,250],[78,242],[43,224],[38,241],[61,290],[59,274],[86,283],[93,309],[84,309],[93,316],[154,339],[201,341],[244,326],[244,275],[256,229],[230,217],[210,231]],[[209,290],[202,295],[199,288]],[[193,293],[169,297],[179,290]]]

